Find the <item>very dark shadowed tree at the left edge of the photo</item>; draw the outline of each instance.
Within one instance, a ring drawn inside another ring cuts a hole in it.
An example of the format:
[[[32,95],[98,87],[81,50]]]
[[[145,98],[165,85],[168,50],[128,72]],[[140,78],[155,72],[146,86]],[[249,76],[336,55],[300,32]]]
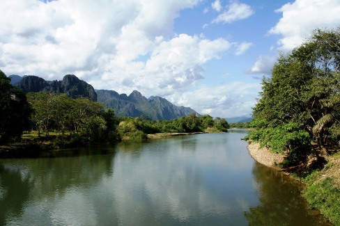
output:
[[[0,144],[20,139],[29,129],[32,108],[26,95],[10,85],[10,78],[0,70]]]

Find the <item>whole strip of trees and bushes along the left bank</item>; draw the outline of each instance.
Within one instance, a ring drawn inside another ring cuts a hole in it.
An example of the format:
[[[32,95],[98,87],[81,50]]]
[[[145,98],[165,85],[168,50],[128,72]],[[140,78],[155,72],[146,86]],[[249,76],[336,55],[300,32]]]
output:
[[[0,157],[39,156],[63,147],[229,129],[224,118],[210,115],[190,113],[171,120],[150,120],[146,115],[132,118],[116,116],[113,109],[91,98],[52,91],[25,94],[10,84],[1,70],[0,90]]]

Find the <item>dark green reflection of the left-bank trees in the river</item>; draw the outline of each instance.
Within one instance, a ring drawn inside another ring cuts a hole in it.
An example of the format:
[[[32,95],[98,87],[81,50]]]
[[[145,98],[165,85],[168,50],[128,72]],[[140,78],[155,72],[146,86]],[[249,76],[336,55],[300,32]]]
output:
[[[0,225],[21,216],[27,202],[46,197],[60,199],[70,188],[92,186],[113,174],[114,153],[60,154],[63,157],[7,159],[0,163]]]

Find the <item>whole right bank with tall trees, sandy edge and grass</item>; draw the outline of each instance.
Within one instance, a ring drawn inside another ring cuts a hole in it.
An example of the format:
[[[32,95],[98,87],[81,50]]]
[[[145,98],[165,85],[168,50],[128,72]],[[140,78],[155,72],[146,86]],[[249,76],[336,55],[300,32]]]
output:
[[[245,137],[249,153],[300,179],[303,197],[340,225],[340,28],[281,54]]]

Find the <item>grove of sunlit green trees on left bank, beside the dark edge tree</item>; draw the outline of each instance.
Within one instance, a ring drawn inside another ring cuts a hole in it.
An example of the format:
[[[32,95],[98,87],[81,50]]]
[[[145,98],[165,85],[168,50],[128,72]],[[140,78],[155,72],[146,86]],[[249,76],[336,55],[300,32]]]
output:
[[[27,97],[34,109],[31,120],[38,136],[43,130],[46,136],[50,131],[59,131],[61,135],[66,131],[81,133],[90,143],[114,142],[117,139],[114,111],[107,109],[104,112],[102,104],[54,92],[30,92]],[[77,136],[75,138],[78,139]]]

